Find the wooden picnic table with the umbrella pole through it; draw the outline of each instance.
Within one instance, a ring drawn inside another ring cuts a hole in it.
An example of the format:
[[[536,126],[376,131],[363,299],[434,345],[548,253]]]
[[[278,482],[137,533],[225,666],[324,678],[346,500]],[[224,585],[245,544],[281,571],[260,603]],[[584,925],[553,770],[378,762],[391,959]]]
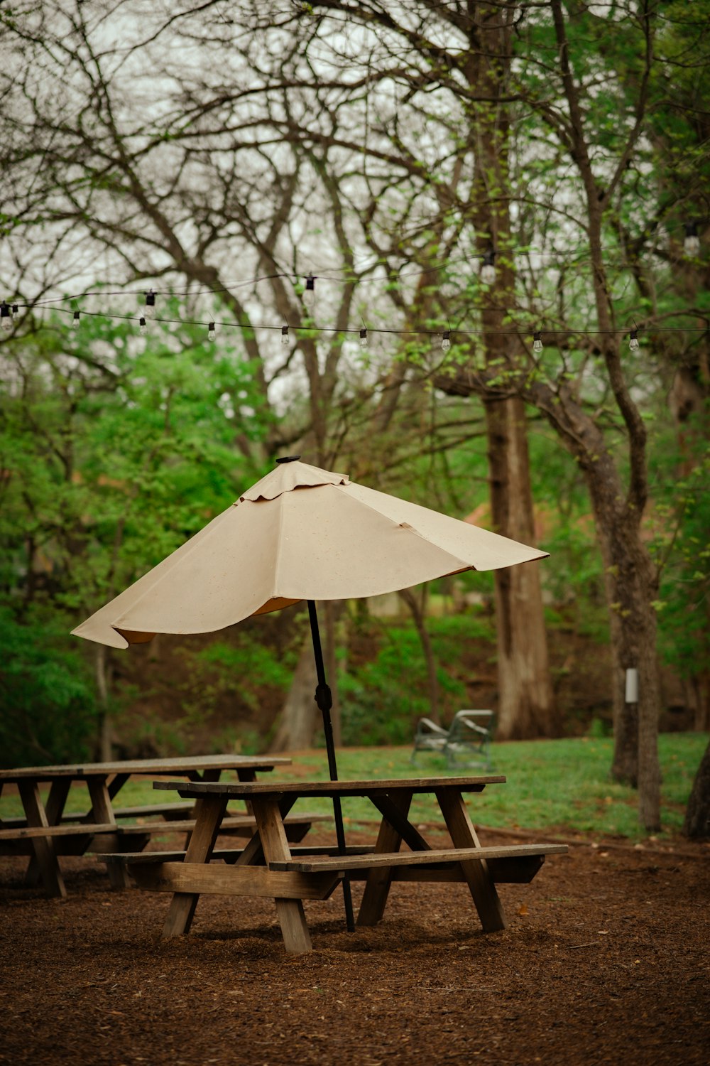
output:
[[[163,936],[187,933],[200,894],[270,897],[286,951],[311,951],[303,900],[324,900],[344,877],[363,878],[365,889],[359,925],[381,918],[393,881],[465,882],[485,932],[506,927],[497,882],[532,879],[545,855],[566,852],[560,844],[482,847],[464,795],[481,792],[505,777],[436,777],[369,781],[155,781],[155,789],[174,789],[200,800],[195,830],[186,852],[115,856],[138,887],[172,892]],[[452,849],[433,850],[409,820],[415,793],[433,793],[448,828]],[[371,846],[292,846],[284,819],[296,801],[325,796],[364,796],[381,815]],[[215,851],[227,804],[250,804],[257,831],[242,851]],[[407,851],[400,851],[406,843]],[[221,861],[220,861],[221,860]]]

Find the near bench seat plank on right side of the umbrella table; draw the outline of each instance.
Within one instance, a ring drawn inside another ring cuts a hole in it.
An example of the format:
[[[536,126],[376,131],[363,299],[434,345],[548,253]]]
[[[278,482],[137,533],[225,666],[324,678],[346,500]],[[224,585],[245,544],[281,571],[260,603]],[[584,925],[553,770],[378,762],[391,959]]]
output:
[[[442,847],[425,852],[391,852],[370,855],[332,855],[313,858],[292,858],[269,862],[270,870],[299,870],[315,873],[320,870],[370,870],[393,866],[430,866],[437,862],[467,862],[470,859],[563,855],[566,844],[505,844],[501,847]]]

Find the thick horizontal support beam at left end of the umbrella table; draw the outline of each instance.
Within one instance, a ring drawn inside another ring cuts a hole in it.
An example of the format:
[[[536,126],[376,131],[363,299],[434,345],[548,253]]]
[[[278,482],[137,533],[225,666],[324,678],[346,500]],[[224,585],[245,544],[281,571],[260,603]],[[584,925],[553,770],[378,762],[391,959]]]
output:
[[[128,870],[138,888],[154,892],[254,895],[278,899],[292,907],[301,906],[301,900],[327,900],[340,882],[336,873],[328,871],[284,873],[266,867],[221,862],[137,862],[129,863]]]

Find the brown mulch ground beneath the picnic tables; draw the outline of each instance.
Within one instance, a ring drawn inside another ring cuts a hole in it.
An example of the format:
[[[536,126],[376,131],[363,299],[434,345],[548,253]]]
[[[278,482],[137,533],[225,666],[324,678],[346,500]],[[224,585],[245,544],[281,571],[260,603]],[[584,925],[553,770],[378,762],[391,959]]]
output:
[[[112,891],[96,859],[63,860],[66,901],[2,859],[0,1062],[706,1066],[710,847],[578,841],[500,886],[503,933],[463,885],[395,885],[347,933],[336,891],[306,904],[308,955],[285,954],[271,901],[203,898],[162,940],[169,898]]]

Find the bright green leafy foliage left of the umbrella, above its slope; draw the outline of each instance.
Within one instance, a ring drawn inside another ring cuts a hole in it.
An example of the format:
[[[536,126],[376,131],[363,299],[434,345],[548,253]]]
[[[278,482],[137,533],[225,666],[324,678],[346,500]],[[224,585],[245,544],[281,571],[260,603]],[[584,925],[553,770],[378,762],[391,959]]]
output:
[[[0,594],[18,632],[34,612],[38,647],[233,502],[262,472],[237,458],[234,437],[258,440],[264,425],[252,368],[197,327],[156,323],[144,341],[100,317],[82,318],[76,334],[48,324],[5,349],[0,384]],[[76,643],[75,658],[89,653]],[[69,714],[79,694],[62,694],[73,675],[61,662],[55,710]],[[40,706],[51,688],[20,673],[28,691],[13,690],[12,713]],[[79,746],[62,749],[79,757]]]

